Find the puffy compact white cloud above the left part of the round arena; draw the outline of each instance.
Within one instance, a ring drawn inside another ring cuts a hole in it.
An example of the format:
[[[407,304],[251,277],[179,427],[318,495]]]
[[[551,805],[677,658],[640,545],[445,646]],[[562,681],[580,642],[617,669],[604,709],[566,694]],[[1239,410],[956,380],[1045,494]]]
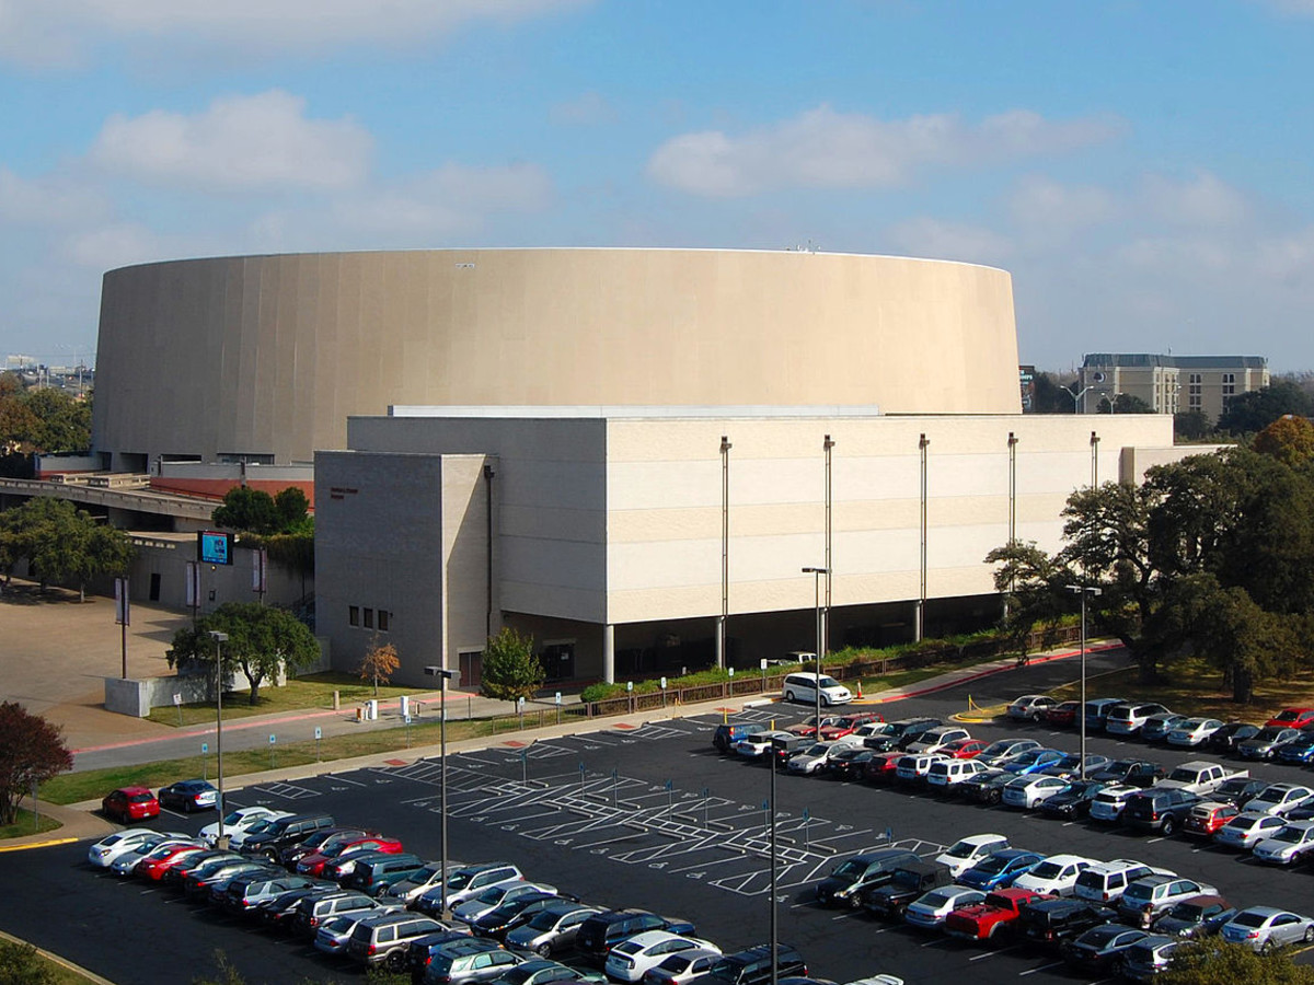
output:
[[[286,92],[214,100],[204,113],[113,116],[91,160],[143,184],[202,192],[334,189],[360,183],[373,141],[351,118],[307,120]]]

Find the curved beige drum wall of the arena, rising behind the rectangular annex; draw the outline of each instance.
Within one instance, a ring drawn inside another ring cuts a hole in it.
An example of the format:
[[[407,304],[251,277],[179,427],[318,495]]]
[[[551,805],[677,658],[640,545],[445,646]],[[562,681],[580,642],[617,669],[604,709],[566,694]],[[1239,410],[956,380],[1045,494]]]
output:
[[[1009,274],[736,250],[237,256],[105,274],[92,440],[307,462],[390,405],[1017,414]]]

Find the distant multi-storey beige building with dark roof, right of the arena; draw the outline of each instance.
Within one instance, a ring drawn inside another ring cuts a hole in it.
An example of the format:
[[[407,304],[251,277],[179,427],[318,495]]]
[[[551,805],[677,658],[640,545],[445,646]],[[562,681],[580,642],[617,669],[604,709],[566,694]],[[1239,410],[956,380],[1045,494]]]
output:
[[[1120,395],[1144,401],[1156,414],[1201,411],[1210,420],[1239,393],[1268,386],[1267,356],[1156,356],[1154,353],[1088,353],[1079,391],[1083,414]]]

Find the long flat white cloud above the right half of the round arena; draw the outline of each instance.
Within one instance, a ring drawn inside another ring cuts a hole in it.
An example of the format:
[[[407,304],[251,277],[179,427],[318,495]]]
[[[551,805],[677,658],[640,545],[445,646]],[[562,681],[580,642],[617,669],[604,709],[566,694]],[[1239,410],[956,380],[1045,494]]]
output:
[[[1051,122],[1029,110],[970,125],[955,114],[883,121],[823,105],[738,137],[720,130],[682,134],[657,148],[648,175],[708,197],[784,188],[891,188],[924,168],[1062,154],[1109,141],[1120,129],[1110,118]]]

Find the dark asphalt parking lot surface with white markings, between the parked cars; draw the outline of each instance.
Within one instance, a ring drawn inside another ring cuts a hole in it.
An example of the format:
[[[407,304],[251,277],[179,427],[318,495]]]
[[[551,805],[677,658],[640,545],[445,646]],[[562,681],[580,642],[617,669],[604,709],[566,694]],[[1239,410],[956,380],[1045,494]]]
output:
[[[1097,671],[1114,658],[1092,661]],[[972,690],[986,703],[1042,690],[1070,676],[1072,662],[1000,675]],[[1007,679],[1007,680],[1003,680]],[[999,693],[989,693],[999,692]],[[1092,696],[1100,693],[1092,688]],[[961,711],[966,693],[903,701],[887,717]],[[770,705],[736,718],[784,725],[805,708]],[[719,716],[671,718],[637,729],[505,743],[448,756],[449,855],[468,862],[506,859],[531,879],[587,902],[640,906],[687,917],[700,936],[724,950],[767,938],[770,850],[767,770],[721,756],[711,746]],[[1075,732],[986,724],[982,738],[1020,734],[1075,749]],[[1093,737],[1091,751],[1144,755],[1171,767],[1190,758],[1177,750]],[[1314,779],[1306,771],[1260,766],[1265,779]],[[230,805],[261,802],[289,810],[328,810],[335,817],[399,837],[409,850],[439,854],[436,759],[235,793]],[[915,934],[861,913],[827,910],[811,886],[838,859],[884,844],[934,856],[958,838],[982,831],[1043,854],[1096,859],[1135,858],[1212,883],[1233,902],[1314,910],[1314,869],[1260,867],[1231,854],[1176,838],[1137,835],[1092,822],[1045,820],[900,788],[779,774],[777,777],[778,897],[781,939],[795,944],[813,974],[836,981],[887,972],[908,982],[1089,981],[1049,955],[1022,947],[978,947]],[[194,830],[213,820],[166,814],[158,826]],[[0,897],[0,927],[49,947],[116,982],[189,981],[223,948],[248,981],[360,980],[301,942],[272,938],[230,917],[193,909],[138,883],[93,875],[85,844],[0,856],[12,889]],[[13,892],[21,888],[24,892]],[[29,905],[28,893],[41,906]],[[124,942],[135,942],[125,944]],[[166,943],[167,942],[167,943]],[[180,968],[179,953],[188,955]]]

